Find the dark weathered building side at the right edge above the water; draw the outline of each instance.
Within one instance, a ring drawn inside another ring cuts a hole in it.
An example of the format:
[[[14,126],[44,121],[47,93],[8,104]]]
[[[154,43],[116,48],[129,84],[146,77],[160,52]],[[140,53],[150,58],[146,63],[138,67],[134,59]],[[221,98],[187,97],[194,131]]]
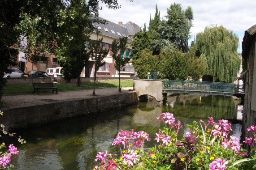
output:
[[[256,25],[244,32],[242,42],[243,83],[245,86],[243,106],[243,137],[252,136],[247,133],[247,128],[255,126],[256,122]]]

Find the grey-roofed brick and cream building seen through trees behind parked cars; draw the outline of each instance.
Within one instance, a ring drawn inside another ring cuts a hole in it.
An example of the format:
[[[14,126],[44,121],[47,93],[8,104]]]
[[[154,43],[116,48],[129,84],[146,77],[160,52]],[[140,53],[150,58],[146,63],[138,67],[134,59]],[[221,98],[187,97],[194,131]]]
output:
[[[99,17],[99,19],[104,20],[103,18]],[[107,21],[107,20],[106,20]],[[114,67],[114,60],[112,58],[112,52],[111,52],[111,43],[115,39],[119,39],[122,37],[127,37],[127,49],[124,52],[124,57],[129,57],[131,54],[133,54],[132,47],[130,46],[130,42],[132,41],[132,38],[134,37],[135,33],[140,30],[140,27],[136,25],[134,22],[127,22],[126,24],[123,24],[122,22],[119,22],[118,24],[115,24],[111,21],[107,21],[107,24],[98,24],[94,23],[94,26],[98,28],[100,31],[100,34],[98,34],[98,39],[103,38],[103,49],[109,49],[108,56],[104,59],[105,65],[100,67],[100,69],[97,71],[96,76],[97,77],[114,77],[119,76],[118,72],[116,71]],[[96,32],[93,32],[91,34],[92,40],[97,40],[97,34]],[[22,41],[23,44],[26,45],[25,41]],[[36,59],[36,63],[31,63],[26,60],[26,54],[24,54],[22,51],[20,51],[20,54],[18,56],[18,63],[19,68],[23,72],[27,72],[30,70],[39,70],[39,71],[45,71],[47,68],[56,68],[60,65],[57,62],[57,58],[55,55],[46,54],[45,57],[40,56]],[[82,77],[93,77],[94,74],[94,62],[89,59],[88,64],[86,67],[83,68],[81,72]],[[132,63],[127,63],[124,67],[124,71],[121,72],[122,77],[130,76],[130,74],[135,73],[135,69],[132,65]]]

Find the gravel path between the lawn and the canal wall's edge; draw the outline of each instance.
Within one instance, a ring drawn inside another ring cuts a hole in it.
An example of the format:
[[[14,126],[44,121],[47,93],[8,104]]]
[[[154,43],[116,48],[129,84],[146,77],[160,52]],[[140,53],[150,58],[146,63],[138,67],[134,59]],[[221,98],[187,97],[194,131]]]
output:
[[[93,89],[81,89],[81,90],[69,90],[69,91],[58,91],[58,93],[53,92],[49,89],[49,92],[37,93],[25,93],[25,94],[5,94],[2,96],[2,102],[4,104],[0,106],[0,109],[31,106],[31,105],[41,105],[49,102],[56,101],[67,101],[67,100],[77,100],[77,99],[87,99],[87,98],[98,98],[100,96],[118,94],[118,87],[106,88],[97,87],[95,89],[95,96],[92,95]],[[132,87],[121,88],[121,93],[130,93]],[[119,93],[120,94],[120,93]]]

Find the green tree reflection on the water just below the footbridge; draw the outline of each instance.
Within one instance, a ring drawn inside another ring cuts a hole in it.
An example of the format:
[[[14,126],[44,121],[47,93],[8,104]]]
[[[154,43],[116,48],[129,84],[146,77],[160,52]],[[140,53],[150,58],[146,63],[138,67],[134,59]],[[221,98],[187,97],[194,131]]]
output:
[[[235,103],[230,96],[176,96],[168,98],[167,102],[169,105],[174,102],[174,105],[172,107],[164,107],[163,112],[169,111],[177,116],[200,119],[208,118],[209,116],[214,119],[235,119]]]

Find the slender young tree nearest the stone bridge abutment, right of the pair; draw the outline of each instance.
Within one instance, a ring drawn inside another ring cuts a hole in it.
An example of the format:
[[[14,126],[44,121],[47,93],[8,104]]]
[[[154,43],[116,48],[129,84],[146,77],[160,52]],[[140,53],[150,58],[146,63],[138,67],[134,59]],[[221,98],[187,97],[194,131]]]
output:
[[[121,92],[121,78],[120,78],[121,71],[123,70],[123,67],[125,66],[125,64],[130,61],[130,58],[123,57],[123,54],[127,48],[126,46],[127,41],[128,41],[128,38],[123,37],[123,38],[119,38],[119,41],[115,39],[112,42],[112,49],[111,49],[111,51],[113,52],[112,57],[115,60],[115,68],[119,72],[118,92]]]

